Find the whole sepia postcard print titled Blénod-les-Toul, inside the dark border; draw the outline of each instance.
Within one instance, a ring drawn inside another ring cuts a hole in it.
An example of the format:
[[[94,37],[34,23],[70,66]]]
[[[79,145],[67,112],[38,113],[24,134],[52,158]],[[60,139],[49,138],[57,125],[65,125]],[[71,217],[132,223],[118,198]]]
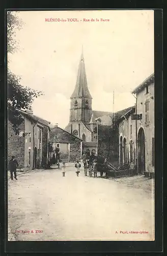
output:
[[[154,241],[154,10],[7,25],[8,241]]]

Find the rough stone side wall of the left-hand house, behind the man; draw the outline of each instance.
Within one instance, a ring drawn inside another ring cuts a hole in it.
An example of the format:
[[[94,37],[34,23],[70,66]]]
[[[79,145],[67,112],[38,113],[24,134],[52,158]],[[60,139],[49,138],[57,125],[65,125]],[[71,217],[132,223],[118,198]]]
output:
[[[25,121],[20,124],[20,131],[24,132],[24,126]],[[8,121],[8,161],[11,159],[11,156],[15,156],[21,169],[24,168],[24,146],[25,138],[16,135],[13,131],[12,123]]]

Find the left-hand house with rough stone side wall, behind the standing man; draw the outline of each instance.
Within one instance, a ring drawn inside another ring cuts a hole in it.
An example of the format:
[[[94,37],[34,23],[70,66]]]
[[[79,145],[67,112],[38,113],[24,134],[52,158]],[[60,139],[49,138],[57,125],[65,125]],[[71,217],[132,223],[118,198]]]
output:
[[[18,135],[8,120],[8,158],[14,155],[23,170],[44,167],[48,163],[49,122],[30,111],[18,112],[23,117]]]

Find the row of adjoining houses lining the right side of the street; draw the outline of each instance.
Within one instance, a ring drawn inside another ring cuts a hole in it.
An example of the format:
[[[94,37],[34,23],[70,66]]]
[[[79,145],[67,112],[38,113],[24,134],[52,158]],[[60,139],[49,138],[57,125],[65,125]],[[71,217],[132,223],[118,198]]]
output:
[[[120,112],[119,164],[130,163],[137,173],[154,173],[154,74],[132,91],[136,104]]]

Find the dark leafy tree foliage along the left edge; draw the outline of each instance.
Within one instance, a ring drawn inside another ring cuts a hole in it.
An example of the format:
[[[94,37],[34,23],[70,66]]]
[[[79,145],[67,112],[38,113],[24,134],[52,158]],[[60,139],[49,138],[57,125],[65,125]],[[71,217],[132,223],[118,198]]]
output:
[[[15,53],[19,49],[19,42],[15,39],[16,31],[20,30],[24,23],[16,15],[18,12],[7,13],[7,48],[8,53]],[[9,65],[9,62],[8,62]],[[13,74],[8,68],[8,119],[13,125],[16,134],[19,133],[19,125],[23,121],[22,115],[17,110],[31,110],[35,98],[43,95],[43,92],[21,86],[21,77]]]

